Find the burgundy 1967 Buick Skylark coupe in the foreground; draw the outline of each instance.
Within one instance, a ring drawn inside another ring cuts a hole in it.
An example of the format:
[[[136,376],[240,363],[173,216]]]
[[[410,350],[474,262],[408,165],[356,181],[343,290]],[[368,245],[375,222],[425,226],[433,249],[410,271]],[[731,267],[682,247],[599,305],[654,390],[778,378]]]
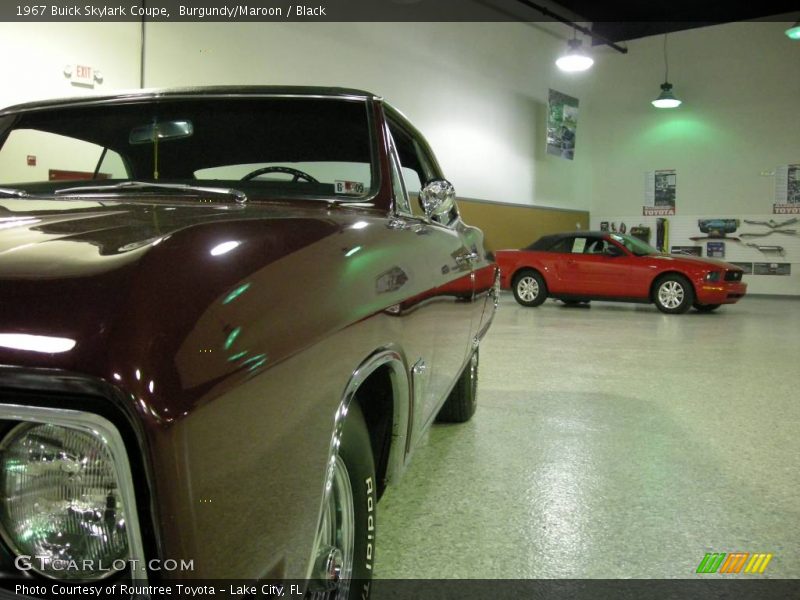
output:
[[[363,595],[385,486],[475,410],[496,290],[372,94],[0,111],[0,581]]]

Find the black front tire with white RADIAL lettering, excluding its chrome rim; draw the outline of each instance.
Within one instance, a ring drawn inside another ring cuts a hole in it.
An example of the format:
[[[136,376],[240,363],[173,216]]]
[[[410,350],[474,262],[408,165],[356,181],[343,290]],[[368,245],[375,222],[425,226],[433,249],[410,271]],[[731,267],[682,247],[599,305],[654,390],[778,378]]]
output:
[[[309,582],[309,593],[306,596],[315,599],[339,600],[346,598],[354,600],[368,598],[372,569],[375,564],[376,510],[378,504],[375,464],[369,431],[361,408],[356,401],[351,402],[348,407],[340,439],[338,456],[335,457],[337,466],[334,469],[333,481],[328,493],[336,496],[336,491],[341,487],[347,488],[346,485],[339,485],[339,478],[346,477],[352,494],[353,510],[351,568],[349,569],[349,577],[347,577],[346,572],[342,573],[343,578],[336,589],[319,592],[316,591],[313,581]],[[343,512],[345,512],[342,510],[344,505],[338,505],[338,508],[335,508],[337,503],[332,501],[330,496],[326,499],[325,505],[329,506],[331,502],[331,514],[335,515],[335,517],[330,520],[341,519]],[[325,509],[323,509],[324,512]],[[323,523],[324,520],[320,523],[320,531],[323,529]],[[340,523],[337,523],[338,525]],[[328,541],[330,541],[330,538]],[[339,541],[341,543],[336,543],[336,547],[347,548],[348,543],[346,540],[340,539]],[[330,546],[327,543],[321,543],[322,545]],[[317,554],[319,554],[319,549]],[[347,558],[345,558],[344,564],[345,571],[347,571]],[[312,572],[312,578],[319,575],[319,570],[315,568],[315,571]]]

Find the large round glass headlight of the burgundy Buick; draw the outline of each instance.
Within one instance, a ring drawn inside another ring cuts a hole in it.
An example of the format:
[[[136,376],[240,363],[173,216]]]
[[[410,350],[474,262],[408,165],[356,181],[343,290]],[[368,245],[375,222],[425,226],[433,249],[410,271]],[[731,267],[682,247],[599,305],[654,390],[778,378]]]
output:
[[[0,525],[35,571],[101,579],[129,558],[125,506],[102,437],[23,423],[0,444]]]

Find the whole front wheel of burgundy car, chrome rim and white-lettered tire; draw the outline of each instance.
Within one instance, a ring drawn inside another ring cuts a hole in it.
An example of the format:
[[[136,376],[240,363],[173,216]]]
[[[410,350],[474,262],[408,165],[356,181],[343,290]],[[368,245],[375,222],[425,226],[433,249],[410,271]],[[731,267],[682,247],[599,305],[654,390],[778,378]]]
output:
[[[308,596],[320,600],[366,598],[375,560],[378,500],[372,446],[357,402],[348,407],[331,469]]]

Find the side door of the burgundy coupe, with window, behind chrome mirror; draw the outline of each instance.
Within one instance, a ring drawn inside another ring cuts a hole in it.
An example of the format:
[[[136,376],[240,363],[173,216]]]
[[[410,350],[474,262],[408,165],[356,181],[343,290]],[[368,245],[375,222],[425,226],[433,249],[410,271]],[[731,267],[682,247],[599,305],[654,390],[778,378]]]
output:
[[[474,265],[485,257],[477,230],[466,226],[457,212],[437,221],[427,218],[419,207],[417,194],[422,184],[442,176],[424,139],[399,115],[392,116],[387,137],[393,169],[399,170],[399,177],[394,177],[398,180],[395,188],[400,188],[395,231],[398,237],[413,237],[408,243],[427,257],[419,265],[422,272],[418,274],[420,281],[426,282],[425,289],[413,299],[413,310],[417,322],[423,325],[428,355],[409,357],[414,364],[416,410],[412,420],[415,434],[420,435],[436,416],[466,362],[477,312]],[[479,321],[480,316],[474,327]]]

